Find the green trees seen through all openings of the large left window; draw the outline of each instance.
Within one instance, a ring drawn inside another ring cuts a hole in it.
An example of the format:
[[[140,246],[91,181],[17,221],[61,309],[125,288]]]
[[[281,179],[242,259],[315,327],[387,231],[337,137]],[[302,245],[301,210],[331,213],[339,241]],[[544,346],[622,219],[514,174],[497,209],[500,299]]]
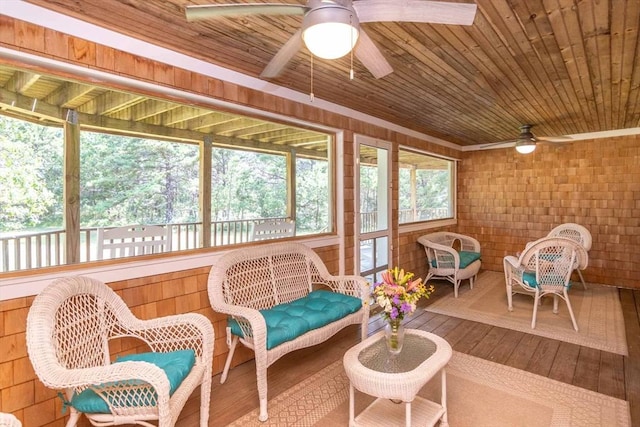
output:
[[[297,159],[298,231],[329,222],[326,161]],[[83,227],[197,222],[199,149],[81,132]],[[63,135],[0,115],[0,231],[63,226]],[[214,148],[212,220],[285,217],[286,157]]]

